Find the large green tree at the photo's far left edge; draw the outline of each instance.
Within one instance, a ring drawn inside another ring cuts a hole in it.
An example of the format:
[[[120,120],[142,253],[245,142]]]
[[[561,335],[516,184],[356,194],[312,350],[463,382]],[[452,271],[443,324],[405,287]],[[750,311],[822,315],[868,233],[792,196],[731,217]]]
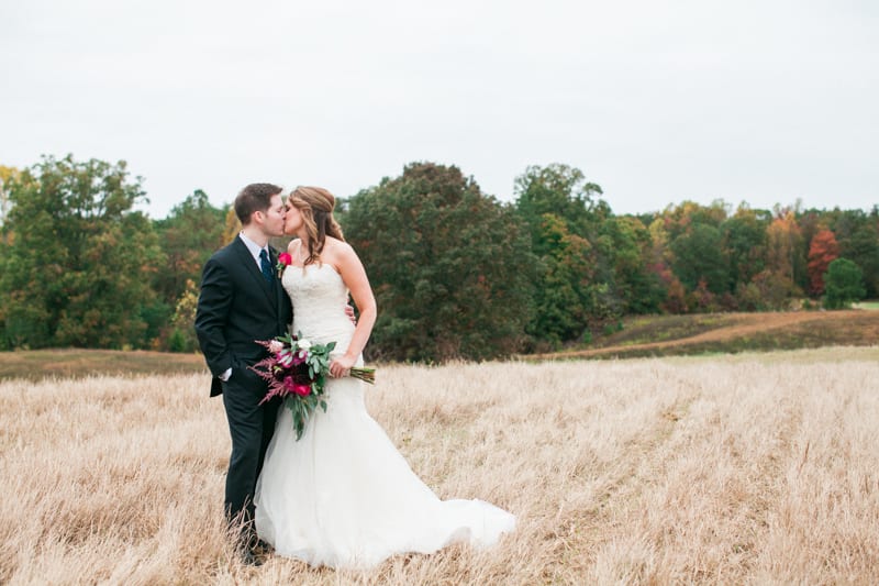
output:
[[[12,181],[0,276],[5,347],[140,347],[152,277],[163,255],[149,220],[132,211],[140,178],[71,155],[44,157]]]

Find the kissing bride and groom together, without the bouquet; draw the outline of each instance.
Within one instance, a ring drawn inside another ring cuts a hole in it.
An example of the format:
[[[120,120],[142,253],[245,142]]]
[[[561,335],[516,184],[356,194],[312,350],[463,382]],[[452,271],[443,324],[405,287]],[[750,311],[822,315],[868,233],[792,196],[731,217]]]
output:
[[[439,500],[367,412],[365,383],[347,376],[363,366],[377,308],[333,218],[333,195],[252,184],[234,208],[242,230],[204,265],[196,332],[211,396],[222,395],[229,420],[225,516],[242,562],[259,565],[274,551],[312,566],[367,568],[458,541],[488,546],[512,531],[515,517],[493,505]],[[269,239],[285,235],[290,264],[279,272]],[[326,410],[312,413],[299,440],[285,399],[260,403],[267,382],[249,368],[268,356],[257,340],[289,331],[335,342]]]

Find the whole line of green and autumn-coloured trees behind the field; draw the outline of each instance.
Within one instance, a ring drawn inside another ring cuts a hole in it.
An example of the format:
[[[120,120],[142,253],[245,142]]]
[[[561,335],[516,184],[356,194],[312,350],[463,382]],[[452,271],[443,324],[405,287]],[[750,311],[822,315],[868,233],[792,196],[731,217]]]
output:
[[[0,181],[0,350],[196,350],[201,267],[240,230],[230,206],[196,190],[151,219],[125,162],[43,157]],[[505,203],[455,166],[412,163],[341,200],[379,306],[371,357],[485,360],[588,343],[632,313],[879,297],[877,206],[614,214],[602,196],[568,165],[526,168]]]

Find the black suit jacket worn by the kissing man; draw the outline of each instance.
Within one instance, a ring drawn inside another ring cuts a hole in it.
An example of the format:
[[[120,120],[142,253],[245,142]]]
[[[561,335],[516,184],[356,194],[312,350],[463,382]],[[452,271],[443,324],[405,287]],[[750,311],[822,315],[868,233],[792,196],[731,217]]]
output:
[[[274,248],[270,257],[274,267]],[[240,236],[216,251],[204,264],[196,310],[199,345],[213,374],[211,397],[223,391],[218,377],[227,368],[246,368],[265,358],[268,351],[255,341],[286,333],[292,317],[280,278],[266,281]]]

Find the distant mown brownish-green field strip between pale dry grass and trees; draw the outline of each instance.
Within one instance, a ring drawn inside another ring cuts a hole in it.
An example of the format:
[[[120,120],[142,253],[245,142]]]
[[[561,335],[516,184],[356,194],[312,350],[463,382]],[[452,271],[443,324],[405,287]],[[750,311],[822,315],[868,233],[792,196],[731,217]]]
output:
[[[879,311],[863,309],[633,316],[621,324],[619,330],[614,329],[590,344],[574,345],[554,353],[522,355],[519,358],[688,356],[871,346],[879,343]],[[0,352],[0,379],[197,373],[208,376],[204,360],[199,353],[77,349]]]

